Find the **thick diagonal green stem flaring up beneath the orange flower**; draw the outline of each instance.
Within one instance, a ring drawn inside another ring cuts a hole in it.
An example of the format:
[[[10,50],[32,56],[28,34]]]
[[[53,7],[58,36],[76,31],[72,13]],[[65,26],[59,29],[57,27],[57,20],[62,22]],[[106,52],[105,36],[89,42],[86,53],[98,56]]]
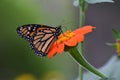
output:
[[[99,72],[96,68],[90,65],[87,60],[82,56],[76,47],[73,47],[69,50],[71,56],[81,65],[83,68],[89,70],[90,72],[96,74],[101,78],[107,78],[104,74]]]

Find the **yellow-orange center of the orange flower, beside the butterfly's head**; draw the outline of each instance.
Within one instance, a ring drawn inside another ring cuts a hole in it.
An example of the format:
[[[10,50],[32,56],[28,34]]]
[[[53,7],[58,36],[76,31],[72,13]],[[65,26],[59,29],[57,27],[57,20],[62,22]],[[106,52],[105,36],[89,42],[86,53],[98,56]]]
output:
[[[61,34],[58,37],[57,42],[61,43],[61,42],[67,41],[67,40],[71,39],[74,35],[75,35],[75,33],[71,32],[71,31],[66,31],[65,33]]]

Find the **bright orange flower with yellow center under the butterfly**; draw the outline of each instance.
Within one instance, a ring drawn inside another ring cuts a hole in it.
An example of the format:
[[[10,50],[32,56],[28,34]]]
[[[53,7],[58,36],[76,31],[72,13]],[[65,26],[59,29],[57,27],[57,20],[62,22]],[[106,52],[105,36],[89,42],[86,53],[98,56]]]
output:
[[[66,46],[76,46],[78,42],[84,41],[84,35],[92,32],[93,26],[84,26],[75,31],[66,31],[58,37],[58,40],[52,45],[48,58],[52,58],[56,53],[61,54]]]

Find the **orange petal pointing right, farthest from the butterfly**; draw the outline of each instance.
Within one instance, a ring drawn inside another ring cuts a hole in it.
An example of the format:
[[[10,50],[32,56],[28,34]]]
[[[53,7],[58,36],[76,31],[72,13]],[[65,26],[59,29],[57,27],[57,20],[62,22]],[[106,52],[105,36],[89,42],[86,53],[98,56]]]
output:
[[[94,29],[95,27],[93,26],[84,26],[82,28],[79,28],[79,29],[76,29],[74,31],[75,34],[86,34],[86,33],[89,33],[89,32],[92,32],[92,30]]]

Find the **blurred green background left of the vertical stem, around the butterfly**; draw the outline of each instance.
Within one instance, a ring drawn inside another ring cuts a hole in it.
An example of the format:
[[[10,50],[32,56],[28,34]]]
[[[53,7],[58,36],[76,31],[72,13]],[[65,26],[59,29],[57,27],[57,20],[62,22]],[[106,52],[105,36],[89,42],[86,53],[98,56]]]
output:
[[[72,1],[64,0],[0,1],[0,80],[14,80],[22,74],[32,74],[40,80],[50,80],[44,78],[47,75],[57,76],[55,80],[73,80],[77,76],[77,65],[68,54],[50,60],[38,57],[16,33],[17,27],[32,23],[75,26],[71,5]]]

